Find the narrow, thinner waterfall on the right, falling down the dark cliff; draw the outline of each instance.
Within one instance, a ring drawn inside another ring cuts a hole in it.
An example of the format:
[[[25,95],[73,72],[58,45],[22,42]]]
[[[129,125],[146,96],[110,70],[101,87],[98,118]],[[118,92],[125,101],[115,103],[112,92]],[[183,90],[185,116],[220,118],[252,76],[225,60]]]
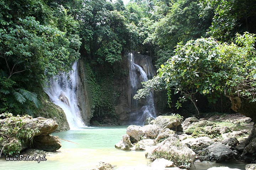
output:
[[[134,125],[143,125],[146,118],[156,117],[155,113],[155,104],[154,104],[154,96],[153,93],[150,92],[149,96],[146,97],[146,102],[144,102],[143,106],[140,108],[139,101],[134,100],[133,96],[137,94],[137,90],[142,87],[141,83],[143,81],[148,81],[148,76],[152,76],[152,73],[149,72],[150,64],[146,61],[145,66],[148,67],[148,76],[144,69],[135,63],[134,53],[128,53],[128,60],[130,63],[129,68],[129,77],[130,77],[130,85],[131,85],[131,105],[136,111],[130,114],[130,124]]]

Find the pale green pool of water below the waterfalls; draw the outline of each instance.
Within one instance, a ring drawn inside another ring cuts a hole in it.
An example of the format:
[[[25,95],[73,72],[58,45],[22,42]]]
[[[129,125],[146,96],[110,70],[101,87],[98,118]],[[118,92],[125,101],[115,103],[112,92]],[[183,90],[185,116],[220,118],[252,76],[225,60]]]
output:
[[[114,148],[114,145],[126,134],[127,126],[84,128],[76,131],[54,133],[65,140],[62,147],[54,154],[46,155],[47,161],[37,163],[35,161],[6,161],[0,159],[0,170],[13,169],[37,169],[37,170],[86,170],[94,167],[99,162],[106,162],[119,166],[135,166],[147,164],[145,152],[122,151]],[[196,170],[206,170],[213,166],[229,166],[244,170],[245,164],[240,162],[216,164],[210,162],[195,163]],[[194,170],[192,167],[191,170]]]

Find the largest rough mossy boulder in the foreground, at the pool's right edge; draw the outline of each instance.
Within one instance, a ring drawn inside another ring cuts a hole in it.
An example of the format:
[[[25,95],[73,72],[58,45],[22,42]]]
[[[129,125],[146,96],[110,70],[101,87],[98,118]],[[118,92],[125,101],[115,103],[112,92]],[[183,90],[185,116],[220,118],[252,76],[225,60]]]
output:
[[[194,162],[196,154],[176,137],[171,136],[159,143],[158,146],[151,148],[145,156],[151,160],[165,158],[173,161],[176,166],[190,166]]]

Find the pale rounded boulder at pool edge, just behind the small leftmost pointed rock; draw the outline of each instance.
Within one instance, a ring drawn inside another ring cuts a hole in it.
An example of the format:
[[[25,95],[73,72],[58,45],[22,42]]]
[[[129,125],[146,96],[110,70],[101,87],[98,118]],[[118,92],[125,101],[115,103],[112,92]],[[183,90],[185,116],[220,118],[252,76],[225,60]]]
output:
[[[142,131],[142,127],[136,125],[128,126],[126,129],[126,134],[130,136],[130,141],[132,143],[140,141],[141,138],[145,135],[145,133]]]

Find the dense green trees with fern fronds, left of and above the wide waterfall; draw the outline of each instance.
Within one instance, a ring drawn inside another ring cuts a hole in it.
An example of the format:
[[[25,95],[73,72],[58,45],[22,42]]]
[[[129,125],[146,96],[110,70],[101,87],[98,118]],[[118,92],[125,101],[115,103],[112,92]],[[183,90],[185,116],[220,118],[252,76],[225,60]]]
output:
[[[80,57],[79,24],[57,3],[0,1],[0,113],[29,113],[47,77]],[[32,92],[33,91],[33,92]]]

